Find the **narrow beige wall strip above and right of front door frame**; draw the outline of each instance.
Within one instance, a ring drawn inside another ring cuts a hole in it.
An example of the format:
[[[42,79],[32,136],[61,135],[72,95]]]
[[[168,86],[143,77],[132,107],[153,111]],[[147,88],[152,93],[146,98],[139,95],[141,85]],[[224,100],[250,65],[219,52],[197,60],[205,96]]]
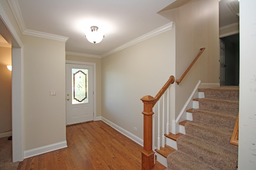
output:
[[[96,116],[101,116],[101,59],[75,55],[66,55],[66,60],[96,63]]]

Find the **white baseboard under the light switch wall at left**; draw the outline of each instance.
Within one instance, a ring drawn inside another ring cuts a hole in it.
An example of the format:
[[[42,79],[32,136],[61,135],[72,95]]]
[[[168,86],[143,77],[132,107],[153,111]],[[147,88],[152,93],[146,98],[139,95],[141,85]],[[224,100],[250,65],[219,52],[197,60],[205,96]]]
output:
[[[67,141],[63,141],[63,142],[59,142],[59,143],[54,143],[52,145],[47,145],[47,146],[44,146],[44,147],[25,150],[24,151],[24,158],[30,158],[32,156],[36,156],[36,155],[39,155],[39,154],[43,154],[43,153],[46,153],[46,152],[51,152],[51,151],[66,148],[66,147],[68,147],[67,146]]]

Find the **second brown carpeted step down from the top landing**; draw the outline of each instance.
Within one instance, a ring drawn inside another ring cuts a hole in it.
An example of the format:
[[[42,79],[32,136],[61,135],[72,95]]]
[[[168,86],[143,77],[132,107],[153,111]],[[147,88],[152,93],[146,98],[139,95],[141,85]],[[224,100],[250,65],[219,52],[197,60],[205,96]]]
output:
[[[237,115],[239,111],[238,101],[232,100],[217,100],[209,98],[199,99],[199,108],[216,112],[226,112]]]

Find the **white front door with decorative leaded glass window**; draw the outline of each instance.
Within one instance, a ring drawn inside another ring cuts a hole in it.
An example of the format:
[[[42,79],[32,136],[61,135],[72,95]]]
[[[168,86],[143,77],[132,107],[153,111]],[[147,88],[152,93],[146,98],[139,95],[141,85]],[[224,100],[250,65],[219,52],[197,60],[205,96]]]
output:
[[[66,125],[93,121],[93,66],[66,63]]]

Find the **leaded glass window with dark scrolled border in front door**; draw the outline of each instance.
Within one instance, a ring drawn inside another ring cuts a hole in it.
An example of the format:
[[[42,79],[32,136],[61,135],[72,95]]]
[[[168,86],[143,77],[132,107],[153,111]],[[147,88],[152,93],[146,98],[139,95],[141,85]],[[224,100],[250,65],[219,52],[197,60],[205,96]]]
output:
[[[88,103],[88,69],[72,68],[72,104]]]

